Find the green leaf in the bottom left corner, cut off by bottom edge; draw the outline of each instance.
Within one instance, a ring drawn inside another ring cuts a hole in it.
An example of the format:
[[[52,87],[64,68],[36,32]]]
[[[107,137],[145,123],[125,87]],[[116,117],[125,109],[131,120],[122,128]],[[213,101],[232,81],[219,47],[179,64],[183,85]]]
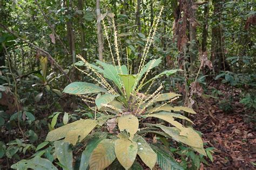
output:
[[[21,160],[18,161],[16,164],[12,165],[11,168],[13,169],[18,169],[18,170],[25,170],[28,168],[31,169],[52,169],[52,170],[58,170],[51,161],[48,159],[40,158],[40,157],[35,157],[30,160]]]

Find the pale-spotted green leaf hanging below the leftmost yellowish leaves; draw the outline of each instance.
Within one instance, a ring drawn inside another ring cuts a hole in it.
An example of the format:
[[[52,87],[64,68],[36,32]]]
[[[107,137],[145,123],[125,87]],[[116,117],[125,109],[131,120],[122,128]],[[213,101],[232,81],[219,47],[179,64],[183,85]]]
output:
[[[73,169],[73,154],[72,149],[69,146],[69,143],[64,142],[63,140],[55,141],[55,152],[60,164],[63,165],[64,170]]]

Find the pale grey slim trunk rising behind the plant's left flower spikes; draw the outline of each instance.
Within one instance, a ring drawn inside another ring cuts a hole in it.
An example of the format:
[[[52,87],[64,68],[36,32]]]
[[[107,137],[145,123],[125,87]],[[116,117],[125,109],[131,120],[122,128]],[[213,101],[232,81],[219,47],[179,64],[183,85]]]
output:
[[[96,15],[97,15],[97,39],[99,60],[103,61],[103,41],[102,41],[102,25],[100,24],[100,0],[96,0]]]

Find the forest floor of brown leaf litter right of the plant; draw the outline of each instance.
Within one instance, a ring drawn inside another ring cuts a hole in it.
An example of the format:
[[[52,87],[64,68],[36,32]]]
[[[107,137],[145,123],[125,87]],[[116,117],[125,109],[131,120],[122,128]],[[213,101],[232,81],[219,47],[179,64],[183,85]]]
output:
[[[224,86],[217,89],[224,94],[223,97],[207,98],[208,103],[199,98],[198,114],[192,118],[196,124],[195,128],[203,133],[207,146],[215,147],[213,163],[204,168],[254,169],[252,162],[256,162],[255,123],[248,118],[242,104],[239,103],[239,89],[233,90],[233,94],[231,89],[227,90]],[[231,95],[234,98],[230,103],[233,110],[227,113],[219,109],[218,102],[224,100],[224,96]]]

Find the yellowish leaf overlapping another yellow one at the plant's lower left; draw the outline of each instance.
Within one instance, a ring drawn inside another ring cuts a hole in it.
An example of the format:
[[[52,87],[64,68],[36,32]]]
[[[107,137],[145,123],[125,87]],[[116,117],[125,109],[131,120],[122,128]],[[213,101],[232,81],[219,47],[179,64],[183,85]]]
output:
[[[64,141],[73,145],[76,144],[78,137],[82,141],[97,125],[97,122],[92,119],[85,119],[83,122],[77,124],[75,128],[66,133]]]

